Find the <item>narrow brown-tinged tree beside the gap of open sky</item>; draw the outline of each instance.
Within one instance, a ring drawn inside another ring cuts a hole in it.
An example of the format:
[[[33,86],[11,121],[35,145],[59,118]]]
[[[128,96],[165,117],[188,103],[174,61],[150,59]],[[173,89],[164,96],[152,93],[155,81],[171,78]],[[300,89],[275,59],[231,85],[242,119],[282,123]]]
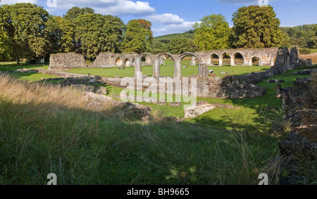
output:
[[[147,20],[130,20],[126,25],[123,46],[125,52],[144,53],[153,41],[151,23]]]

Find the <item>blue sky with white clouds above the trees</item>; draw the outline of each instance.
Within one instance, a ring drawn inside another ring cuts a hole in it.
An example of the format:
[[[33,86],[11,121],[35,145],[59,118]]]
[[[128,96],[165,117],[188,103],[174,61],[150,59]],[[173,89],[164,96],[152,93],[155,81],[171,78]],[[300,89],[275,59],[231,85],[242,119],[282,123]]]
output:
[[[315,0],[1,0],[0,5],[32,3],[52,15],[66,14],[73,6],[93,8],[95,13],[120,17],[124,23],[146,19],[152,23],[154,37],[192,30],[192,25],[211,14],[225,16],[230,27],[232,14],[242,6],[273,6],[281,26],[317,23]]]

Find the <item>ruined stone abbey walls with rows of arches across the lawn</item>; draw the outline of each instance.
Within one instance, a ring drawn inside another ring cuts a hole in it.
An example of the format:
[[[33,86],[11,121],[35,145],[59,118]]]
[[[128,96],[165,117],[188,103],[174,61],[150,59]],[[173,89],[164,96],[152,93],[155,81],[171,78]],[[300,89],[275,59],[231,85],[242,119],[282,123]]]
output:
[[[248,75],[234,76],[227,75],[226,77],[207,77],[206,65],[212,65],[211,54],[217,54],[221,60],[225,54],[228,54],[231,58],[232,65],[235,65],[234,58],[240,53],[244,58],[244,65],[250,65],[252,58],[259,57],[260,65],[273,65],[273,60],[276,58],[275,63],[272,68],[266,72],[252,72]],[[275,53],[275,55],[274,55]],[[299,58],[299,49],[297,47],[292,47],[288,49],[287,47],[280,47],[279,49],[231,49],[231,50],[219,50],[213,52],[203,52],[203,53],[183,53],[182,55],[173,55],[170,53],[161,53],[159,55],[151,55],[150,53],[142,53],[137,55],[135,53],[130,54],[113,54],[113,53],[101,53],[97,59],[94,61],[92,67],[112,67],[115,66],[132,66],[135,65],[135,74],[142,72],[142,58],[147,57],[154,65],[154,75],[156,81],[159,81],[160,75],[160,65],[162,58],[170,57],[175,63],[174,67],[174,77],[181,77],[181,61],[185,56],[193,56],[199,63],[199,75],[192,75],[192,77],[197,78],[197,96],[204,98],[256,98],[266,94],[265,89],[261,89],[255,84],[263,81],[263,79],[268,79],[275,75],[281,75],[287,70],[297,69],[302,65],[312,65],[311,60]],[[194,59],[192,60],[192,62]],[[59,53],[51,56],[50,68],[86,68],[85,59],[75,53]],[[110,79],[110,78],[105,78]],[[120,83],[121,78],[114,78],[113,82],[116,82],[115,86],[119,86],[117,82]],[[188,81],[188,88],[191,86],[191,78]],[[113,80],[113,78],[111,79]],[[136,79],[135,79],[136,81]],[[112,82],[108,82],[111,84]],[[136,82],[135,82],[136,83]],[[136,85],[136,84],[135,84]],[[183,85],[182,85],[183,86]],[[149,87],[142,87],[142,90],[148,89]],[[130,87],[129,89],[140,89],[137,87]],[[192,91],[189,91],[189,96],[191,96]],[[174,93],[173,93],[174,94]]]

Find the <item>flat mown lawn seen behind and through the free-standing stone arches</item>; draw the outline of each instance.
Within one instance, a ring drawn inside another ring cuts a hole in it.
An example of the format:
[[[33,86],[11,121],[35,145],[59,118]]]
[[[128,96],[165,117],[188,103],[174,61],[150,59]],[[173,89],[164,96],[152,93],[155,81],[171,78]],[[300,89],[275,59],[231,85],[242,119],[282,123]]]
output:
[[[188,68],[183,68],[187,66]],[[228,75],[246,75],[251,72],[266,71],[271,66],[209,66],[209,70],[213,70],[213,74],[216,74],[217,77],[225,77],[221,75],[221,70],[223,72],[228,72]],[[162,65],[160,68],[161,76],[163,77],[173,77],[174,76],[174,63],[172,60],[166,60],[165,65]],[[68,72],[73,72],[82,75],[99,75],[101,77],[134,77],[135,68],[126,67],[125,70],[119,70],[119,68],[75,68]],[[142,67],[143,75],[151,77],[153,75],[153,66],[147,65]],[[190,60],[182,61],[182,77],[188,77],[192,75],[198,75],[198,65],[190,66]]]

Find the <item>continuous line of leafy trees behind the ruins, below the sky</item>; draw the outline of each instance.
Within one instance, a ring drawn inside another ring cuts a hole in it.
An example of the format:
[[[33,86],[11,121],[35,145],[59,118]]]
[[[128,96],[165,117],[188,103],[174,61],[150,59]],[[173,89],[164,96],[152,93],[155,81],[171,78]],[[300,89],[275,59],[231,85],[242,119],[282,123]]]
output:
[[[61,16],[42,6],[0,6],[0,61],[39,60],[50,53],[82,53],[94,60],[101,52],[184,53],[228,48],[271,48],[297,45],[317,48],[317,25],[280,27],[273,7],[249,6],[232,15],[229,27],[223,15],[208,15],[183,34],[153,37],[151,22],[95,13],[73,7]]]

